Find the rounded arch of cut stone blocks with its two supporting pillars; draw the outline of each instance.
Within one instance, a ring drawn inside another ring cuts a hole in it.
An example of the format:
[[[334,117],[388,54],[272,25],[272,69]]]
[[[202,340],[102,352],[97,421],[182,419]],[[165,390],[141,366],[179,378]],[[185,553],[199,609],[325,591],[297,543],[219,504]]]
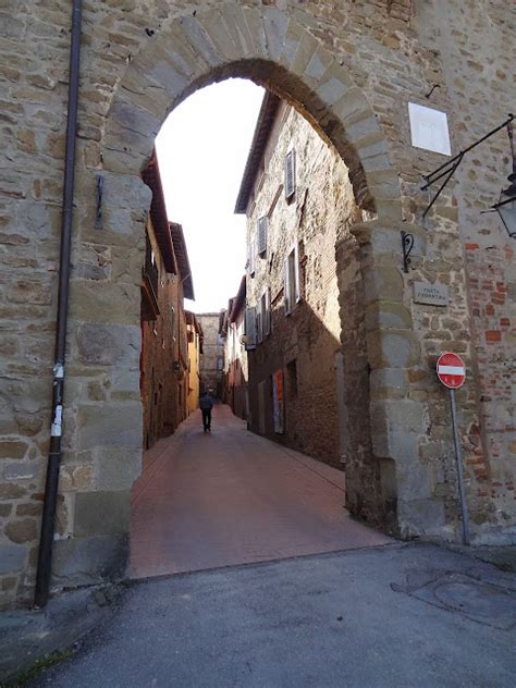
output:
[[[348,476],[348,502],[357,515],[398,532],[404,520],[410,520],[400,476],[413,469],[416,457],[405,442],[406,416],[400,401],[391,401],[389,389],[397,389],[391,382],[396,372],[419,359],[419,345],[403,303],[403,280],[391,265],[400,237],[401,192],[386,139],[360,89],[308,27],[275,9],[225,3],[163,24],[146,52],[132,59],[110,106],[101,140],[101,241],[113,269],[109,280],[97,282],[73,275],[70,321],[76,367],[71,366],[71,384],[75,377],[87,393],[69,409],[74,423],[69,460],[94,455],[100,466],[114,462],[116,470],[111,467],[91,490],[75,495],[72,540],[57,546],[58,583],[70,580],[71,552],[87,569],[72,576],[73,582],[113,576],[124,561],[130,488],[142,454],[135,337],[143,226],[150,199],[139,173],[168,113],[196,89],[234,76],[267,86],[305,113],[340,152],[359,207],[374,218],[352,230],[360,256],[371,374],[364,403],[367,446],[360,447],[360,460]],[[93,229],[98,170],[85,167],[81,174],[77,263],[90,244],[99,242]],[[106,346],[91,346],[99,336]],[[419,419],[419,404],[403,403]],[[420,430],[417,426],[408,433]]]

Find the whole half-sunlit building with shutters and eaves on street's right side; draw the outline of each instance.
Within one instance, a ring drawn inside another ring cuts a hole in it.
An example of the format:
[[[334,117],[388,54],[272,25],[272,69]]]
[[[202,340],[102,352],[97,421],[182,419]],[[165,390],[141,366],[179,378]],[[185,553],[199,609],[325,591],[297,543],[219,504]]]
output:
[[[360,388],[344,395],[335,245],[361,214],[340,156],[271,93],[237,210],[247,214],[250,429],[341,468],[344,406]]]

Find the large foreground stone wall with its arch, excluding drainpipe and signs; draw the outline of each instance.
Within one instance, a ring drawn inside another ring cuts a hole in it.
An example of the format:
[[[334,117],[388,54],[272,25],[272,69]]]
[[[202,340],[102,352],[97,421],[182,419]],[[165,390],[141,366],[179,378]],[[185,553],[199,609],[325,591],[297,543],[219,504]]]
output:
[[[474,542],[514,539],[515,246],[496,216],[481,214],[507,185],[507,140],[501,132],[466,156],[422,219],[421,174],[443,157],[411,146],[407,108],[445,112],[453,151],[505,120],[514,12],[500,0],[84,3],[53,589],[123,573],[143,450],[139,290],[151,194],[140,173],[168,113],[236,76],[307,116],[349,170],[363,213],[336,247],[340,295],[354,285],[363,307],[347,332],[349,299],[340,296],[343,337],[360,353],[344,376],[366,390],[360,432],[349,420],[348,508],[403,537],[459,538],[449,401],[434,373],[438,354],[454,349],[468,368],[458,421]],[[7,0],[0,10],[3,605],[30,600],[38,556],[70,13],[65,0]],[[408,273],[401,230],[416,239]],[[415,281],[445,284],[449,305],[416,304]],[[86,360],[85,342],[100,334],[109,347]]]

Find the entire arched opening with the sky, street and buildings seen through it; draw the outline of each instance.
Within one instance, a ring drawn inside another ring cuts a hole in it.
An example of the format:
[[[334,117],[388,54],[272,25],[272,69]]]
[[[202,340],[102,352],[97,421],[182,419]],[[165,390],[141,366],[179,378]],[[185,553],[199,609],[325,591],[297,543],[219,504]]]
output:
[[[254,109],[244,98],[254,98]],[[238,144],[243,155],[235,163]],[[364,211],[342,158],[295,108],[243,79],[183,101],[156,150],[143,177],[152,191],[146,232],[156,246],[159,308],[152,315],[152,287],[146,286],[147,451],[132,495],[131,575],[385,542],[343,508],[343,469],[348,464],[353,476],[353,457],[368,442],[368,395],[357,393],[364,383],[367,389],[365,306],[348,231]],[[173,275],[160,258],[170,249],[156,241],[168,229],[161,195],[180,250]],[[235,200],[238,214],[231,217]],[[340,283],[337,243],[345,260]],[[192,282],[196,300],[185,302],[193,311],[182,318],[176,288],[184,284],[192,296]],[[197,369],[196,353],[188,349],[188,363],[184,356],[185,335],[195,344],[196,333],[202,342]],[[194,392],[198,373],[200,389],[225,405],[216,403],[205,432],[198,395],[193,408],[185,403],[185,388]]]

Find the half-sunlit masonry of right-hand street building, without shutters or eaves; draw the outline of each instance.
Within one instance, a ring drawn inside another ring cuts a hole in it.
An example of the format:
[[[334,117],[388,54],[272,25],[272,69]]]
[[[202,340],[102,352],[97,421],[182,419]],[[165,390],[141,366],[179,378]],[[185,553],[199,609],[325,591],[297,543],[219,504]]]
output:
[[[295,151],[296,189],[286,199],[284,163]],[[247,211],[247,243],[256,254],[258,219],[267,216],[267,250],[247,267],[247,304],[270,290],[271,333],[248,353],[250,428],[341,468],[337,370],[341,316],[335,262],[337,236],[361,218],[346,167],[294,108],[282,103],[263,151]],[[300,302],[285,314],[284,261],[299,247]],[[343,340],[343,347],[346,342]],[[294,372],[295,366],[295,372]],[[271,376],[284,376],[284,428],[274,431]],[[366,390],[368,385],[366,385]],[[357,394],[357,390],[355,390]],[[263,429],[263,428],[262,428]]]

